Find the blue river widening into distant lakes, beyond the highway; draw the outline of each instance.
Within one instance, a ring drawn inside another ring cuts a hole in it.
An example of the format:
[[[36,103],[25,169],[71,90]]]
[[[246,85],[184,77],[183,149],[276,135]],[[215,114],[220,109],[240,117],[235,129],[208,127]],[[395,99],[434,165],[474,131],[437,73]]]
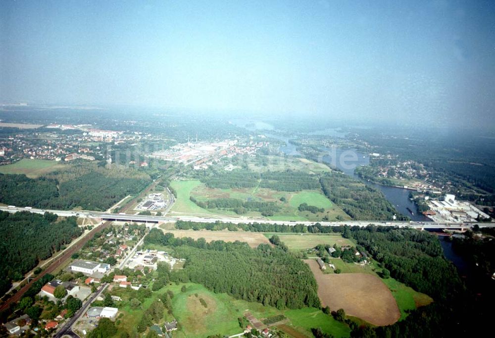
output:
[[[273,125],[260,122],[256,120],[247,120],[247,119],[237,119],[231,121],[231,123],[235,124],[238,127],[246,128],[250,131],[263,131],[263,134],[272,139],[277,139],[285,142],[286,145],[280,146],[279,150],[284,152],[290,156],[300,155],[300,152],[297,151],[296,145],[293,145],[289,142],[288,137],[273,135],[270,133],[266,133],[266,131],[273,131],[275,128]],[[340,129],[325,129],[323,131],[312,132],[312,135],[329,135],[334,137],[343,137],[344,133]],[[328,163],[333,167],[337,167],[342,170],[346,175],[352,176],[355,179],[361,180],[364,183],[371,185],[377,189],[379,189],[387,200],[392,203],[396,210],[400,212],[402,215],[409,217],[413,221],[417,222],[429,222],[431,221],[428,217],[418,212],[416,204],[409,199],[409,190],[396,188],[396,187],[388,187],[380,184],[375,184],[371,182],[367,182],[362,180],[356,174],[354,174],[354,169],[357,166],[367,166],[370,163],[370,159],[368,154],[359,152],[355,149],[341,149],[341,148],[325,148],[321,147],[320,150],[327,155],[323,155],[320,160],[322,162]],[[411,213],[408,209],[412,210]]]

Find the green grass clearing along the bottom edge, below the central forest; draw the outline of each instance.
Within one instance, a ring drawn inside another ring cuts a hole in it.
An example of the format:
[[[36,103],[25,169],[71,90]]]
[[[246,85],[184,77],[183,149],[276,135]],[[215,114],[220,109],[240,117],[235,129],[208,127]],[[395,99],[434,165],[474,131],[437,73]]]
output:
[[[186,286],[185,292],[181,291],[182,286]],[[347,325],[325,315],[320,309],[278,310],[257,302],[234,299],[226,293],[213,293],[199,284],[187,283],[168,285],[152,292],[151,297],[138,309],[132,309],[130,306],[130,290],[114,288],[111,293],[122,297],[119,310],[124,314],[118,325],[116,337],[123,331],[135,332],[145,310],[167,290],[174,293],[172,315],[179,323],[179,329],[173,333],[174,338],[204,338],[216,334],[223,336],[241,333],[238,317],[242,317],[246,312],[250,312],[258,320],[284,315],[290,322],[285,323],[281,329],[285,328],[286,332],[297,338],[313,337],[310,329],[314,327],[320,327],[323,332],[335,337],[349,337],[350,333]],[[201,304],[199,300],[201,298],[206,303],[206,307]],[[170,319],[171,316],[165,311],[164,321]]]

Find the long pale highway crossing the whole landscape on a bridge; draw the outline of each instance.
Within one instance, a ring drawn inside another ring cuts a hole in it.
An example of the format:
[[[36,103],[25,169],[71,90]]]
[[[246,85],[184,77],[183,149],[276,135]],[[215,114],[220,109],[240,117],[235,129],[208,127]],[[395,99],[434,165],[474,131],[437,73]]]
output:
[[[220,222],[230,222],[234,224],[238,223],[260,223],[260,224],[287,224],[287,225],[296,225],[296,224],[304,224],[304,225],[314,225],[316,222],[310,221],[270,221],[265,219],[254,219],[254,218],[230,218],[230,217],[220,217],[220,218],[206,218],[206,217],[194,217],[194,216],[146,216],[146,215],[134,215],[134,214],[112,214],[107,212],[97,212],[97,211],[89,211],[89,210],[80,210],[80,211],[70,211],[70,210],[48,210],[48,209],[26,209],[22,207],[7,207],[0,206],[0,210],[8,211],[8,212],[18,212],[18,211],[29,211],[34,213],[43,214],[46,211],[57,214],[58,216],[76,216],[82,218],[94,218],[98,220],[104,221],[120,221],[120,222],[137,222],[137,223],[162,223],[162,222],[175,222],[177,220],[182,221],[194,221],[194,222],[202,222],[202,223],[214,223],[217,221]],[[167,210],[168,211],[168,210]],[[475,224],[478,224],[481,228],[483,227],[494,227],[494,222],[474,222],[474,223],[437,223],[437,222],[413,222],[413,221],[339,221],[339,222],[318,222],[322,226],[341,226],[341,225],[349,225],[349,226],[358,226],[358,227],[366,227],[369,224],[376,224],[382,226],[392,226],[392,227],[412,227],[412,228],[424,228],[424,229],[436,229],[436,228],[470,228]]]

